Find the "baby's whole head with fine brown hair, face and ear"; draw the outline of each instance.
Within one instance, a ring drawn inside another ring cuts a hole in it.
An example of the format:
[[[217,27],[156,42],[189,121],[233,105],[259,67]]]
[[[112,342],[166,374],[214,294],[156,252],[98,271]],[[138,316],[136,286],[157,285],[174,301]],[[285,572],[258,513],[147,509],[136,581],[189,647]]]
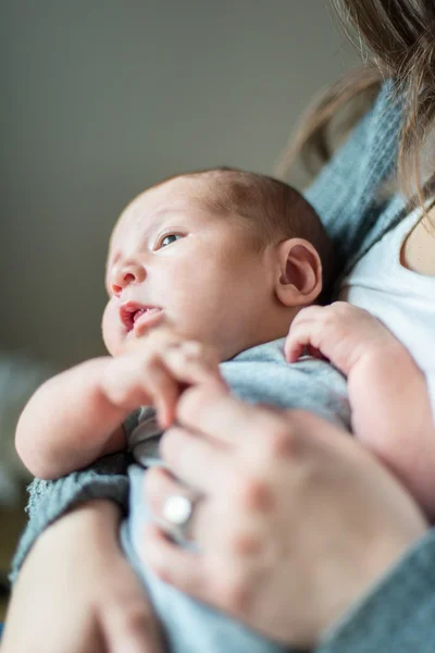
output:
[[[136,197],[110,241],[104,343],[120,354],[157,324],[227,360],[286,335],[322,289],[331,245],[312,207],[271,177],[215,169]]]

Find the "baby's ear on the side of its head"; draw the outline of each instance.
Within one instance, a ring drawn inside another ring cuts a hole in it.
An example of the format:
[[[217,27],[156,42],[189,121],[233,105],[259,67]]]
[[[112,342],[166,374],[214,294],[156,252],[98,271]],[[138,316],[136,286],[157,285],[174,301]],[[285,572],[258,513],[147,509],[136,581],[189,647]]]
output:
[[[322,291],[322,262],[316,249],[303,238],[276,246],[275,294],[285,306],[308,306]]]

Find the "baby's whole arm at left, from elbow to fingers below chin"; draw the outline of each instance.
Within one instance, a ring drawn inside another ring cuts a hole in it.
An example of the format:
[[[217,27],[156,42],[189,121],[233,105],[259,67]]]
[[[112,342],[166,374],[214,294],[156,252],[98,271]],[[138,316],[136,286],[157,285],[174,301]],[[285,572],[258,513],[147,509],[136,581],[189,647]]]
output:
[[[192,354],[194,346],[197,345]],[[116,358],[88,360],[36,391],[16,429],[16,448],[35,476],[53,479],[125,447],[122,422],[140,405],[154,405],[162,427],[173,420],[179,382],[217,378],[197,343],[156,334]]]

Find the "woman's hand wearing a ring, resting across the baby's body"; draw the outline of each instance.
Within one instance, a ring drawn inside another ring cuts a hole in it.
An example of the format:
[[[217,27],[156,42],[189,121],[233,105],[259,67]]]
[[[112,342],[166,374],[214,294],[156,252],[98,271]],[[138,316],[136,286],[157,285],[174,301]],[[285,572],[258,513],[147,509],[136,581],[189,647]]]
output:
[[[303,411],[253,407],[221,389],[194,387],[162,454],[201,492],[177,547],[151,527],[153,569],[181,590],[282,642],[312,646],[427,529],[393,476],[347,433]],[[186,490],[150,470],[162,518]]]

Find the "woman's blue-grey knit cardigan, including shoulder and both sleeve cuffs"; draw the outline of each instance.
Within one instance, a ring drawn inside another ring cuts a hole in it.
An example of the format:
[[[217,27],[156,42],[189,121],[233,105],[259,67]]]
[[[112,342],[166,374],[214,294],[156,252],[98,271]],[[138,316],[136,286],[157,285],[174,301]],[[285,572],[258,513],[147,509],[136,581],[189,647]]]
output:
[[[380,184],[394,171],[401,110],[386,82],[371,111],[307,193],[346,273],[403,217],[399,195],[380,199]],[[91,469],[29,486],[29,522],[12,566],[15,578],[35,539],[74,504],[105,497],[126,509],[125,454],[107,456]],[[433,653],[435,651],[435,529],[372,589],[316,653]]]

